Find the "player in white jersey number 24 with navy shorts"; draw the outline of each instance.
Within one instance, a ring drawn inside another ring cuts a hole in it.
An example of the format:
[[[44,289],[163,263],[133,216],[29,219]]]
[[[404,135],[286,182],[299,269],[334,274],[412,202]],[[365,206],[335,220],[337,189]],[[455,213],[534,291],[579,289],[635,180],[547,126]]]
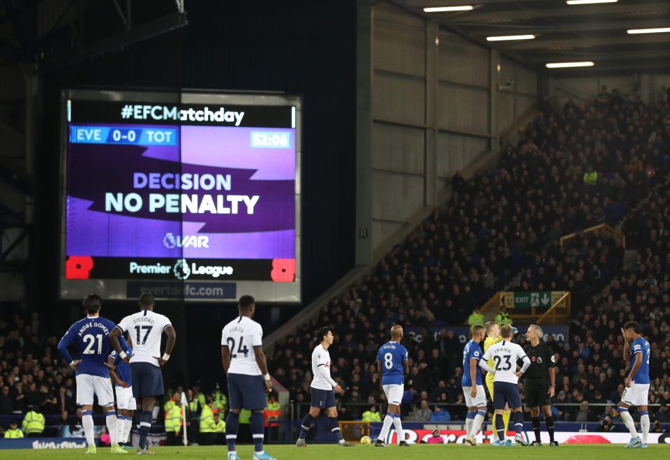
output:
[[[255,300],[243,295],[237,304],[239,317],[223,327],[221,334],[221,357],[223,371],[228,377],[228,402],[230,412],[225,419],[225,442],[228,444],[228,460],[239,460],[235,443],[239,427],[239,413],[251,410],[249,427],[253,436],[254,460],[276,460],[263,450],[267,406],[265,394],[272,389],[270,374],[263,353],[263,328],[255,322]]]

